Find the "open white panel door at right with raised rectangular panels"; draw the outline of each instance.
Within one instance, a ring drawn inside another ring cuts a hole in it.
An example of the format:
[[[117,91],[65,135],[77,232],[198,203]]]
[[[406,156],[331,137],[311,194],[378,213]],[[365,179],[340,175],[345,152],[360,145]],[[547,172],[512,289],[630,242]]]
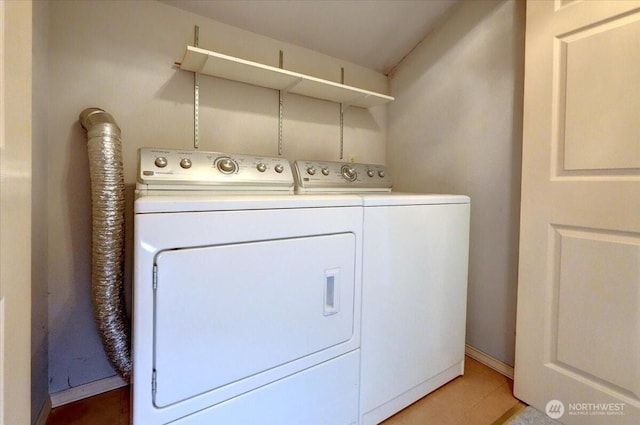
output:
[[[515,395],[640,423],[640,2],[527,3]]]

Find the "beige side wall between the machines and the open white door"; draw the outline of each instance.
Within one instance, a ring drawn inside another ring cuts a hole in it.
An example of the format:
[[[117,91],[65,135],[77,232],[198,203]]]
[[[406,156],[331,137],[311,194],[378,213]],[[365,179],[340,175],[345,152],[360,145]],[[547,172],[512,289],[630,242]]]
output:
[[[471,196],[467,343],[513,365],[524,2],[460,4],[391,77],[395,189]]]

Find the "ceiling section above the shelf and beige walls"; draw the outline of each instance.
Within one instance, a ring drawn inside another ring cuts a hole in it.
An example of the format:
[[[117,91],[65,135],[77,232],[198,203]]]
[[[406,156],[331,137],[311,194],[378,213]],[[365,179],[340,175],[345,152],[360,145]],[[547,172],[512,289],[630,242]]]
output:
[[[388,74],[462,0],[161,0]]]

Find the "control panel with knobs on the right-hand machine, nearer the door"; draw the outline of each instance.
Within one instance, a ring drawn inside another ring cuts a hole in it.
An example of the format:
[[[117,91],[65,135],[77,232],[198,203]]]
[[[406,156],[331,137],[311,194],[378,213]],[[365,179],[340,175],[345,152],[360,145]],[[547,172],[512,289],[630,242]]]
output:
[[[384,165],[298,160],[293,170],[298,192],[389,192],[392,187]]]

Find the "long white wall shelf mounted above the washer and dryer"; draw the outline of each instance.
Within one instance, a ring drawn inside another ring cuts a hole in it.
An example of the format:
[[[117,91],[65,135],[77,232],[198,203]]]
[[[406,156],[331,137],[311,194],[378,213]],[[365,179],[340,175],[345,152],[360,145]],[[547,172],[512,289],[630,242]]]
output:
[[[252,62],[199,47],[187,46],[180,69],[256,86],[371,108],[393,97],[297,72]]]

